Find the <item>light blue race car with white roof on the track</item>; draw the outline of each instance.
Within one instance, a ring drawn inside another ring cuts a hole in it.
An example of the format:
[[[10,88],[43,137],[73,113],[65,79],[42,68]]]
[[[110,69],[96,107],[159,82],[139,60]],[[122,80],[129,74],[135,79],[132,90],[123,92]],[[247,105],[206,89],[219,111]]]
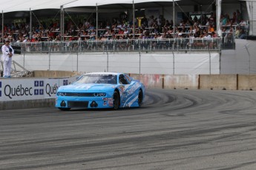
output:
[[[128,75],[93,72],[60,86],[55,106],[61,110],[141,107],[144,97],[144,84]]]

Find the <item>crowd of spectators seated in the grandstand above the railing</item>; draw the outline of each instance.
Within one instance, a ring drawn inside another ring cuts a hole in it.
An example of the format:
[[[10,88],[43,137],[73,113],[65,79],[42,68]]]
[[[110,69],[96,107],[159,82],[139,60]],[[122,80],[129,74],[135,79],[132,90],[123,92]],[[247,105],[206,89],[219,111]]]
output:
[[[223,36],[235,36],[246,38],[246,21],[241,17],[239,10],[230,17],[228,14],[221,15],[221,28]],[[132,39],[134,38],[216,38],[216,15],[202,15],[200,18],[186,18],[173,27],[173,21],[163,16],[140,17],[136,19],[135,33],[133,33],[132,21],[114,18],[111,22],[101,21],[96,34],[94,20],[87,20],[79,24],[73,21],[65,23],[65,41],[85,41],[88,39]],[[174,34],[175,29],[175,34]],[[96,37],[98,35],[98,37]],[[49,26],[44,24],[33,25],[30,38],[30,24],[13,23],[4,24],[4,38],[13,42],[36,42],[36,41],[61,41],[60,23],[52,21]]]

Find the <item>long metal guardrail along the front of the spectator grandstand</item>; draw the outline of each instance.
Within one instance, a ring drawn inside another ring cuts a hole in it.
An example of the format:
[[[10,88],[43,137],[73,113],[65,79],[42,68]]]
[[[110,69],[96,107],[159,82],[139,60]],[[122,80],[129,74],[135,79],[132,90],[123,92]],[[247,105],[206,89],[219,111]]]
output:
[[[220,38],[119,39],[87,41],[15,42],[22,52],[219,51]]]

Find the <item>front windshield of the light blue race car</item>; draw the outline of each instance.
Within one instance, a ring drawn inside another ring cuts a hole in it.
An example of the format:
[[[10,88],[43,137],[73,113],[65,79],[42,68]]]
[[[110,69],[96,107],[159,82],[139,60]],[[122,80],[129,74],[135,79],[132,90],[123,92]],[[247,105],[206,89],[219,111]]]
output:
[[[116,75],[83,75],[77,84],[117,84]]]

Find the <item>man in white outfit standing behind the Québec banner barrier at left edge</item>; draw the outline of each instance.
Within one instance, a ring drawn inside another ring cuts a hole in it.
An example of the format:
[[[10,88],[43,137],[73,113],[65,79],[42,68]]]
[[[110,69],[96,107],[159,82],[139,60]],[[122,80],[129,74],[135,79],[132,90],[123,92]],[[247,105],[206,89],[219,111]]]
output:
[[[12,66],[14,50],[13,47],[10,46],[9,39],[5,40],[5,44],[1,47],[1,52],[3,52],[4,78],[10,78],[10,69]]]

